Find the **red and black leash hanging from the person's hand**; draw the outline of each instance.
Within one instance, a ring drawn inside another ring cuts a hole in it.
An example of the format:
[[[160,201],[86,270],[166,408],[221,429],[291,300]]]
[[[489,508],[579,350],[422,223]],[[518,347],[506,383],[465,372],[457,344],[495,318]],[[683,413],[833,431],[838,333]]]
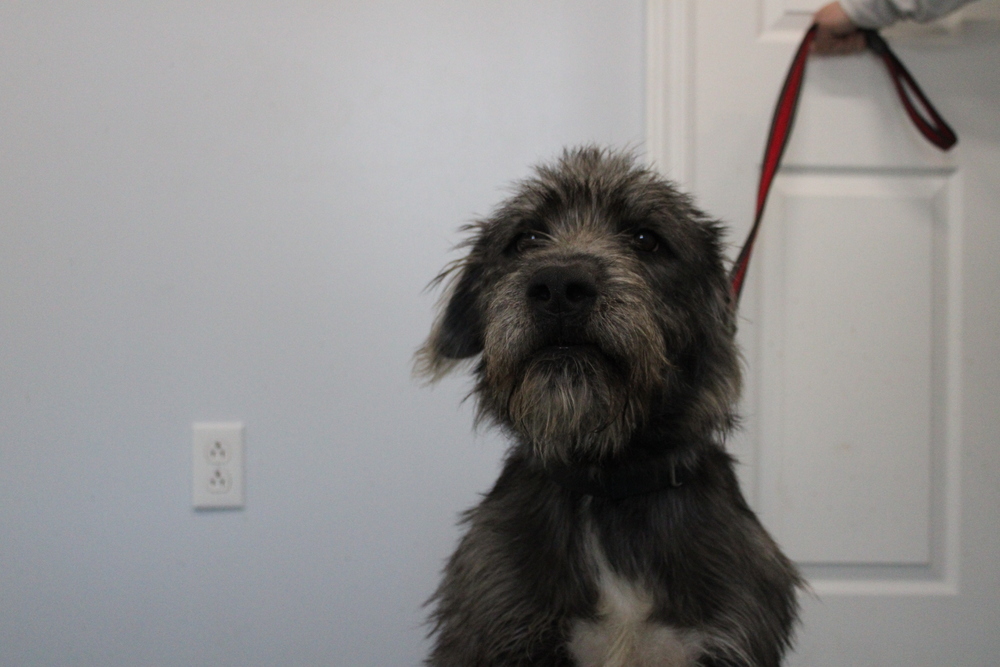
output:
[[[743,280],[746,278],[747,268],[750,265],[750,254],[753,252],[753,244],[757,239],[757,230],[764,214],[764,205],[767,203],[767,195],[771,191],[771,181],[781,164],[781,156],[785,152],[788,144],[788,137],[792,134],[792,125],[795,122],[795,109],[799,103],[799,93],[802,90],[802,81],[806,73],[806,60],[809,58],[809,47],[816,37],[817,27],[813,25],[802,38],[795,57],[792,58],[792,65],[785,76],[785,83],[778,96],[778,105],[774,109],[774,116],[771,118],[771,131],[767,137],[767,144],[764,147],[764,162],[761,165],[760,184],[757,186],[757,210],[754,213],[753,226],[747,235],[747,240],[743,242],[736,262],[729,273],[730,285],[733,290],[733,306],[740,300],[743,292]],[[886,69],[892,77],[892,82],[896,86],[896,92],[903,102],[907,115],[913,124],[916,125],[920,133],[932,144],[941,150],[948,150],[955,145],[958,137],[948,126],[941,115],[938,114],[934,105],[930,103],[920,86],[907,71],[903,63],[900,62],[896,54],[892,52],[889,45],[882,39],[875,30],[863,30],[865,42],[871,51],[885,62]],[[914,98],[919,102],[921,109],[914,104]]]

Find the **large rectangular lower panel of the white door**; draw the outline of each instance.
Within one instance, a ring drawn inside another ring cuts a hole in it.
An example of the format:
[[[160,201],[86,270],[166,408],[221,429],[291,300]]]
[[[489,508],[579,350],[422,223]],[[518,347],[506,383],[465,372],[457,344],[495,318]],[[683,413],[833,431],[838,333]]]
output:
[[[810,170],[775,183],[757,257],[768,314],[758,499],[814,586],[843,581],[848,567],[864,581],[867,566],[893,581],[948,571],[934,544],[947,534],[944,496],[931,481],[954,442],[955,178]],[[820,569],[830,565],[841,574]]]

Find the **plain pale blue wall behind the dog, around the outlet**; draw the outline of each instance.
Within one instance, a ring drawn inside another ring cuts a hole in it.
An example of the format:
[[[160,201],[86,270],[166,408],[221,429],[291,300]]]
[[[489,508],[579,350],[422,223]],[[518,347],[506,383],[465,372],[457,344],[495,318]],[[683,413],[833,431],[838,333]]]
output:
[[[641,146],[642,2],[0,5],[0,665],[415,665],[496,474],[410,378],[457,228]],[[190,507],[238,419],[247,506]]]

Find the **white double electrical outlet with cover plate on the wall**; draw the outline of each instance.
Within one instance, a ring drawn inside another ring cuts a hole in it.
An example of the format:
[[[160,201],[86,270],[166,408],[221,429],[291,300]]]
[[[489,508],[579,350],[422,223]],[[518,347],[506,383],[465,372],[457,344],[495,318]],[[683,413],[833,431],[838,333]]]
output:
[[[195,509],[243,507],[243,424],[192,425],[191,502]]]

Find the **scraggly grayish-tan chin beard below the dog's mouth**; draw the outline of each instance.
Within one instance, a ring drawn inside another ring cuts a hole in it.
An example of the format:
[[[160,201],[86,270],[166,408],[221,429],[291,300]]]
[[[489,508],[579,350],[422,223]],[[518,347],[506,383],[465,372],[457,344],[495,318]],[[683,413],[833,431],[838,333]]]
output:
[[[543,461],[605,459],[625,446],[636,423],[625,376],[596,348],[545,348],[510,390],[508,423]]]

